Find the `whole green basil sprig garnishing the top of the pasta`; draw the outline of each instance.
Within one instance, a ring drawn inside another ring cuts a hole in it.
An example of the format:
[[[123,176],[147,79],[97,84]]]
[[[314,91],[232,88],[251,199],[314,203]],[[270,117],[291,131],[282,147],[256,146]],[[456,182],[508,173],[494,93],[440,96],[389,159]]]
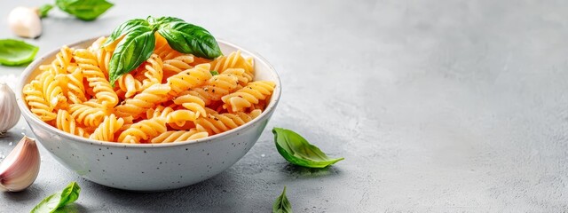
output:
[[[127,20],[106,39],[103,47],[117,44],[109,64],[108,81],[114,85],[120,76],[130,73],[152,56],[155,47],[154,33],[166,38],[170,47],[182,53],[205,59],[219,57],[221,49],[209,31],[175,17],[148,17],[146,20]]]

